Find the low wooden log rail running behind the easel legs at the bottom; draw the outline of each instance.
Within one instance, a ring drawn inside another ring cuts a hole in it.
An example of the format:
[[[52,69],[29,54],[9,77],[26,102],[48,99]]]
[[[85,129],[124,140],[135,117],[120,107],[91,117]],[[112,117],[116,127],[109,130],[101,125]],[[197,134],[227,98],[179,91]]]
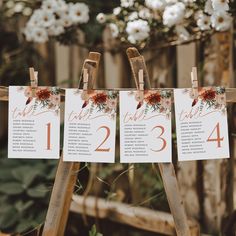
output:
[[[70,209],[75,213],[83,213],[83,205],[86,213],[91,217],[109,219],[111,221],[126,224],[148,232],[161,233],[164,235],[176,235],[173,216],[166,212],[154,211],[144,207],[133,207],[125,203],[107,201],[102,198],[73,195]],[[196,221],[189,220],[191,236],[199,235],[199,227]]]

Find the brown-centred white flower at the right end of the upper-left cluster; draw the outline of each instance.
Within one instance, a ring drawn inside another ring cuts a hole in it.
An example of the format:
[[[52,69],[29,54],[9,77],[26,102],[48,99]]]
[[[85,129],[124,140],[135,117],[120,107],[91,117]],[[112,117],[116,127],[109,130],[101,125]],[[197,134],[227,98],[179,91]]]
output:
[[[89,21],[89,8],[85,3],[76,3],[69,7],[73,23],[87,23]]]

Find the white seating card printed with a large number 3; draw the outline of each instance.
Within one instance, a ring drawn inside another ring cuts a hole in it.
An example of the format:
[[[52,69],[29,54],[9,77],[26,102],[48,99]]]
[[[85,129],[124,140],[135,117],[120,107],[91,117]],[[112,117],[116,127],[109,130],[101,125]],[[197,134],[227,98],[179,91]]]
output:
[[[171,162],[169,91],[120,92],[120,153],[122,163]]]

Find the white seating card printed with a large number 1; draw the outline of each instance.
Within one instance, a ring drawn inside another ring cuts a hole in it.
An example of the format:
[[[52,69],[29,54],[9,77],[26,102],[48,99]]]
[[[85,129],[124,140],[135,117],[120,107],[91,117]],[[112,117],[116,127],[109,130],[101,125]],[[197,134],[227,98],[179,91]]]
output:
[[[57,88],[9,87],[8,158],[57,159],[60,94]]]

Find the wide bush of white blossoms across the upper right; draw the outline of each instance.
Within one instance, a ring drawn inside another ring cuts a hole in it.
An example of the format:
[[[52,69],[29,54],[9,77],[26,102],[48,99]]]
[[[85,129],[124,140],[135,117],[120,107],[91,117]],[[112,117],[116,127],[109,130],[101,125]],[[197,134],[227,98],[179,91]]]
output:
[[[194,40],[230,28],[229,0],[121,0],[113,14],[99,13],[120,42],[147,43]]]

